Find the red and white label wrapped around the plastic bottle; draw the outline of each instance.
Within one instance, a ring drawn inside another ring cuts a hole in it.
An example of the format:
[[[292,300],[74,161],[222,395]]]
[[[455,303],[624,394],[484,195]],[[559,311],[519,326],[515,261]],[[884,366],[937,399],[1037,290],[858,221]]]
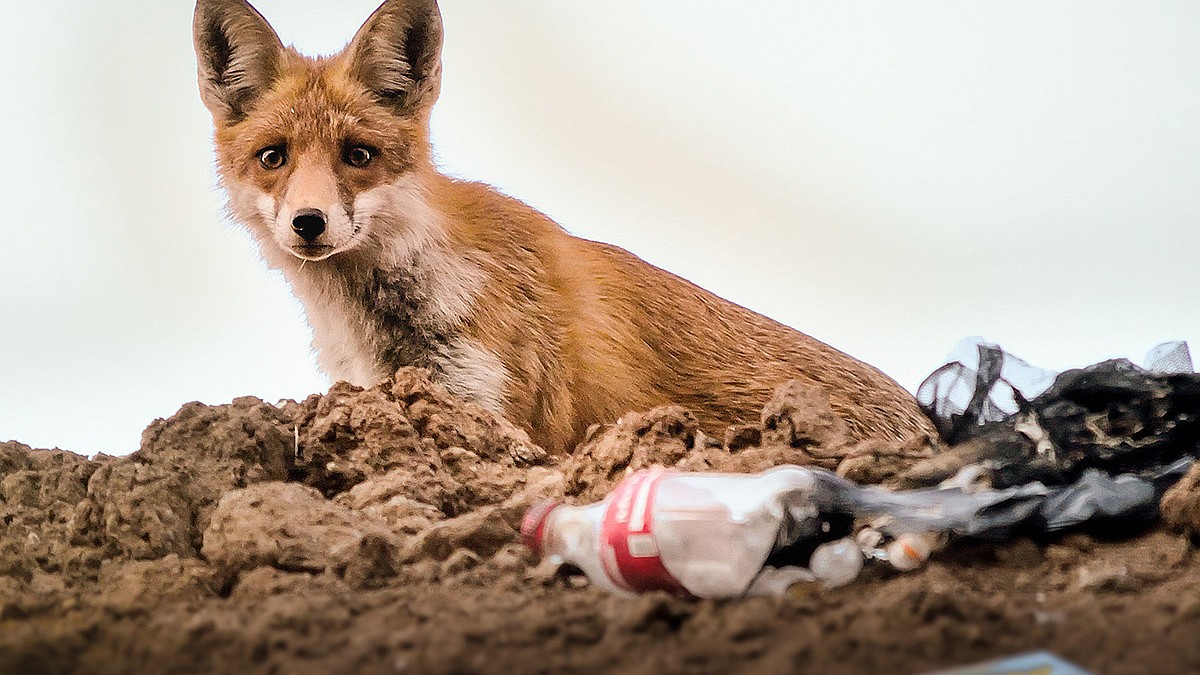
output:
[[[667,572],[654,539],[654,500],[659,482],[668,473],[643,468],[622,480],[608,497],[600,526],[600,561],[613,584],[626,591],[691,595]]]

